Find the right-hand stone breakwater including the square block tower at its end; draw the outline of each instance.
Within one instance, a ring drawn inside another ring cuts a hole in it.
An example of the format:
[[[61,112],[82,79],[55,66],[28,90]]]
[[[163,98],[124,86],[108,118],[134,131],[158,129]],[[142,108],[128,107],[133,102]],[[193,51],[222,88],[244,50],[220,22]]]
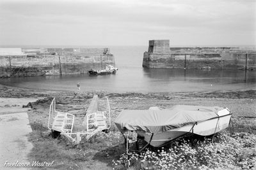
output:
[[[170,40],[150,40],[143,67],[173,69],[256,69],[255,48],[171,47]]]

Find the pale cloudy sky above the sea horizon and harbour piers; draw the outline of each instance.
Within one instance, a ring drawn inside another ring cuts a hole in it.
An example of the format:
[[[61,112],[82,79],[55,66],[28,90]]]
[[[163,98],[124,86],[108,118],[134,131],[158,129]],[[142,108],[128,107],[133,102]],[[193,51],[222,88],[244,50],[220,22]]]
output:
[[[0,0],[0,46],[256,46],[255,0]]]

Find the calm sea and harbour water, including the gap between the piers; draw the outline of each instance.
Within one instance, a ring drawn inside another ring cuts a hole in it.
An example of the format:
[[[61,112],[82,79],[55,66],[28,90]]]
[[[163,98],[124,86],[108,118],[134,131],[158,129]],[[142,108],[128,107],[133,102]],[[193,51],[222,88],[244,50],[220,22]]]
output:
[[[116,74],[1,78],[0,84],[40,90],[82,92],[211,92],[256,90],[256,71],[148,69],[142,67],[148,46],[108,46],[115,55]]]

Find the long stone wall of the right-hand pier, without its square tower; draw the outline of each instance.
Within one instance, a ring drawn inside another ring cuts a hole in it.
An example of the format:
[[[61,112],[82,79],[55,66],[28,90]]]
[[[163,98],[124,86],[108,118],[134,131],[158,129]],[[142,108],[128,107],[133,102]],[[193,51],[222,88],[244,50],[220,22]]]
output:
[[[185,54],[145,52],[143,67],[173,69],[184,69],[184,67],[186,69],[256,69],[256,53]]]

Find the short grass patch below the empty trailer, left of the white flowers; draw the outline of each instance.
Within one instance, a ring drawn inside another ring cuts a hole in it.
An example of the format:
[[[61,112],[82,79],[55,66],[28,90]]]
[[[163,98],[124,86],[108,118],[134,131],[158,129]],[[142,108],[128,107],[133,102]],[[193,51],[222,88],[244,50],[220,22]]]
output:
[[[54,169],[112,169],[111,161],[124,153],[120,132],[100,132],[90,141],[82,139],[79,145],[72,145],[65,137],[51,138],[47,127],[40,122],[32,123],[31,127],[29,141],[34,145],[29,154],[31,162],[54,161]]]

